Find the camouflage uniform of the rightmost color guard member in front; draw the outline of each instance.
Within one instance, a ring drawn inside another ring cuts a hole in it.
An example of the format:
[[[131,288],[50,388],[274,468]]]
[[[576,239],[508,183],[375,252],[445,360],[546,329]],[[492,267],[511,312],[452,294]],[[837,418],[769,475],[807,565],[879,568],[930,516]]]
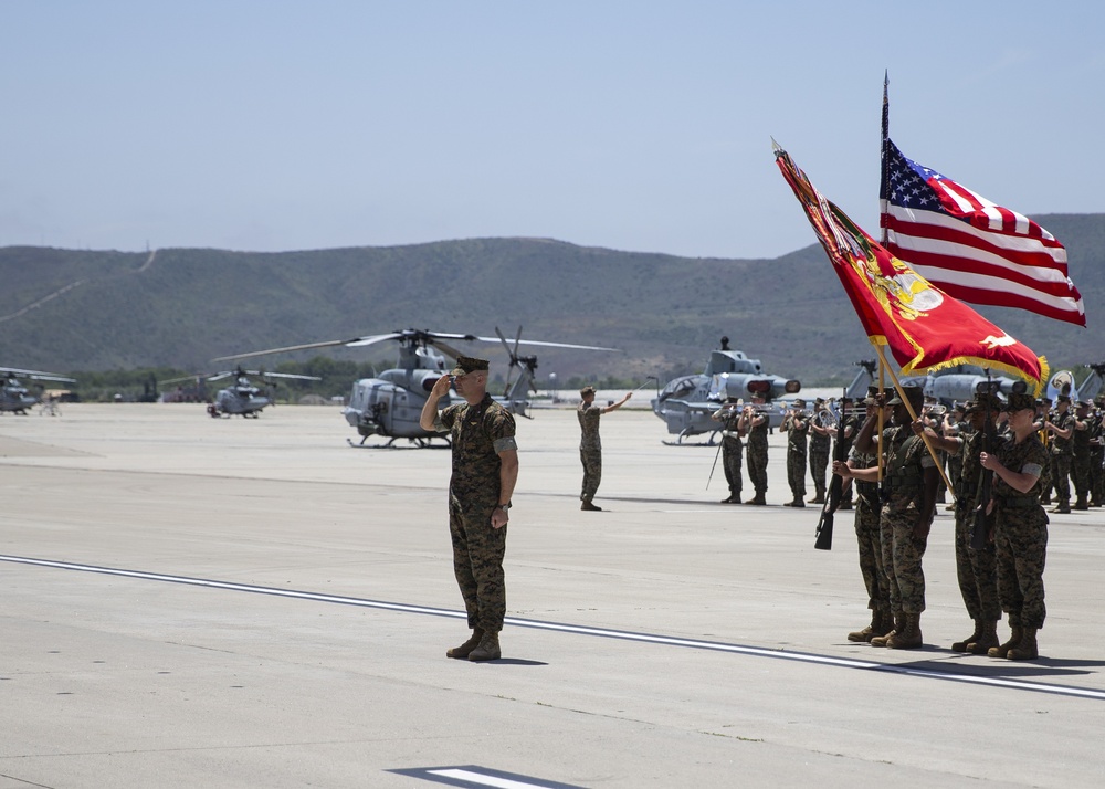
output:
[[[1038,474],[1048,463],[1048,451],[1035,433],[1021,443],[1009,435],[994,452],[1010,471]],[[993,475],[994,543],[998,555],[998,595],[1009,614],[1010,628],[1043,627],[1046,616],[1043,566],[1048,556],[1048,514],[1040,505],[1041,484],[1028,493]]]

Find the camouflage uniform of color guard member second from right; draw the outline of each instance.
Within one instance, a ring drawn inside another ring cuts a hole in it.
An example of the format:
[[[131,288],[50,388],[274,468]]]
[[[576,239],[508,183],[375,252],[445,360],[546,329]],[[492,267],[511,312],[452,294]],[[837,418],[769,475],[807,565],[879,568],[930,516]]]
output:
[[[960,459],[961,469],[956,483],[955,538],[959,593],[968,617],[983,622],[997,622],[1001,619],[1001,604],[998,601],[998,565],[993,543],[987,539],[982,548],[976,550],[971,547],[976,527],[975,513],[980,504],[986,505],[979,499],[982,483],[979,454],[982,452],[985,430],[960,431],[957,441],[959,452],[951,456]],[[997,438],[991,439],[991,445],[997,441]]]

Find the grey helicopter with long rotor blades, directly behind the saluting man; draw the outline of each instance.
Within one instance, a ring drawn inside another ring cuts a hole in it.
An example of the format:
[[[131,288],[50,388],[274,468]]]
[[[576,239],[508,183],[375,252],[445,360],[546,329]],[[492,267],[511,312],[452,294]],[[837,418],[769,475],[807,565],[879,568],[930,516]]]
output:
[[[215,359],[215,361],[327,348],[338,345],[346,346],[347,348],[362,348],[376,345],[377,343],[394,340],[399,343],[398,367],[385,370],[376,378],[361,378],[352,385],[349,404],[345,408],[343,414],[346,421],[357,429],[361,440],[359,444],[355,444],[349,440],[349,445],[365,445],[365,441],[369,436],[380,435],[388,439],[387,446],[391,446],[397,439],[407,439],[419,446],[429,446],[433,439],[441,439],[448,445],[448,440],[444,436],[423,430],[419,425],[419,418],[422,415],[422,406],[429,398],[434,382],[443,375],[448,375],[451,368],[451,365],[446,362],[445,356],[438,353],[435,348],[440,348],[444,354],[455,359],[465,354],[456,350],[449,343],[502,343],[511,355],[511,372],[513,372],[515,367],[518,367],[519,376],[513,386],[511,386],[509,378],[507,378],[507,390],[504,397],[495,399],[507,406],[514,413],[520,415],[526,415],[526,410],[529,406],[529,391],[536,391],[534,370],[537,368],[537,359],[532,356],[519,357],[517,355],[519,345],[540,345],[579,350],[614,350],[614,348],[600,348],[590,345],[525,340],[522,339],[520,328],[518,329],[518,336],[514,340],[514,349],[512,350],[503,333],[497,327],[495,332],[498,334],[497,337],[478,337],[472,334],[450,334],[409,328],[387,334],[354,337],[351,339],[308,343],[286,348],[272,348],[270,350],[223,356]],[[444,407],[448,404],[449,398],[442,398],[441,406]]]

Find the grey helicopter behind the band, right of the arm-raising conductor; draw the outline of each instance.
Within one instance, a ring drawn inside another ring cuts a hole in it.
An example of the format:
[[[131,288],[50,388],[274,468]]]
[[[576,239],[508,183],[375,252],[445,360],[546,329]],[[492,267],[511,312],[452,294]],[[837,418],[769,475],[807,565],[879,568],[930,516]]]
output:
[[[683,443],[691,435],[719,430],[711,414],[729,398],[761,396],[765,403],[785,394],[801,391],[800,381],[764,372],[759,359],[750,359],[743,350],[729,348],[729,338],[722,337],[719,350],[709,353],[706,369],[696,376],[680,376],[669,381],[652,400],[652,411],[667,424],[667,432]],[[765,404],[769,424],[782,424],[785,409]],[[672,442],[665,442],[672,443]]]

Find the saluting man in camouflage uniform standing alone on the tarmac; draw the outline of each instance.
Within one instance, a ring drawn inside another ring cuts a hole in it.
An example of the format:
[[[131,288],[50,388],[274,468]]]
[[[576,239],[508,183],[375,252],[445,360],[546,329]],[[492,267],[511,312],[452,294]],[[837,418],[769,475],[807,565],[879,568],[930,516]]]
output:
[[[438,412],[450,378],[463,403]],[[506,617],[506,524],[518,481],[514,417],[487,393],[487,361],[461,356],[449,376],[439,378],[422,407],[423,430],[449,432],[453,473],[449,480],[449,532],[453,571],[464,599],[472,637],[446,658],[498,660],[498,633]]]

